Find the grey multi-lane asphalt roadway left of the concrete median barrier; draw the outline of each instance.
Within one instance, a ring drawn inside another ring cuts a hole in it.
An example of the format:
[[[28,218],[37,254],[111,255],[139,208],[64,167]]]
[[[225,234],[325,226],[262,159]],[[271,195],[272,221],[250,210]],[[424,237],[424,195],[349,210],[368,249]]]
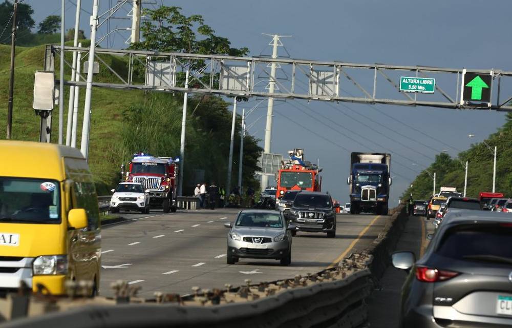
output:
[[[343,257],[367,247],[383,228],[385,216],[338,214],[336,238],[326,234],[298,233],[292,241],[292,263],[278,260],[240,259],[226,264],[224,223],[238,209],[178,211],[166,214],[121,214],[126,221],[104,226],[102,235],[100,295],[112,296],[112,282],[126,280],[141,286],[142,297],[154,292],[192,293],[202,289],[293,278],[336,265]]]

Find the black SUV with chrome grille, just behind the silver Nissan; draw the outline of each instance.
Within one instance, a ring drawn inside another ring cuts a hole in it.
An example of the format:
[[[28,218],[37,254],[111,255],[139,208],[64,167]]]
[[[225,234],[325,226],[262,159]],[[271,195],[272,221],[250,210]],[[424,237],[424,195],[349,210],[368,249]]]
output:
[[[336,208],[331,196],[319,192],[300,192],[295,196],[288,219],[296,226],[292,231],[325,232],[328,238],[336,236]]]

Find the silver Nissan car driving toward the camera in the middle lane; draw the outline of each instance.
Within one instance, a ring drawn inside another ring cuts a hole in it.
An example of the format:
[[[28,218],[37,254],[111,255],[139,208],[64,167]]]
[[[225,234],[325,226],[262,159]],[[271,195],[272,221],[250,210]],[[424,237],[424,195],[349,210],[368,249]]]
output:
[[[278,259],[281,265],[291,263],[291,232],[283,214],[270,210],[243,210],[230,228],[227,236],[227,264],[239,258]]]

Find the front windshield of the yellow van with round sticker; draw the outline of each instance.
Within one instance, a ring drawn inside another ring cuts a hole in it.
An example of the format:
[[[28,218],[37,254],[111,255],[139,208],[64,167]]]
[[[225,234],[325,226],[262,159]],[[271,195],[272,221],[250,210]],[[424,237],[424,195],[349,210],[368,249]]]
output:
[[[60,223],[59,182],[0,177],[0,222]]]

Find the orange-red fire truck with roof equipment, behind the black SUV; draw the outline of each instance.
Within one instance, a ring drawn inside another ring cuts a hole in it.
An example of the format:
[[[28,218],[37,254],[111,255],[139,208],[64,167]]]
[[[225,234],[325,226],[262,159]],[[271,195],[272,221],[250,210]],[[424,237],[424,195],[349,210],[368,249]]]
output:
[[[283,197],[287,190],[321,191],[322,169],[316,164],[304,160],[304,150],[289,151],[290,159],[281,162],[281,169],[276,174],[278,188],[276,199]]]

